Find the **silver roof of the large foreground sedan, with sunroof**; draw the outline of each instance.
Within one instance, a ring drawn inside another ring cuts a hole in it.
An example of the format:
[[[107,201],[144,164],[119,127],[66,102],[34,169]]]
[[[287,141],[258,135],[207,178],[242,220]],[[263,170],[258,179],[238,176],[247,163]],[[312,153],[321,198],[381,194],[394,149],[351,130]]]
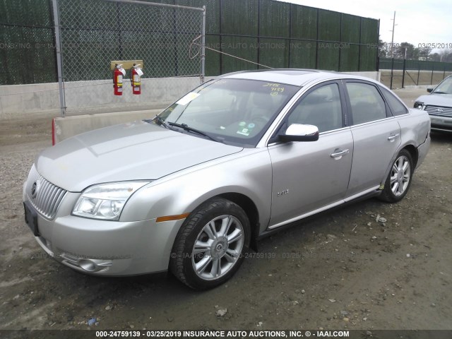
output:
[[[269,81],[296,86],[303,86],[311,81],[328,81],[333,79],[357,79],[375,82],[363,76],[355,76],[334,71],[321,71],[317,69],[263,69],[256,71],[241,71],[227,73],[220,76],[220,78]]]

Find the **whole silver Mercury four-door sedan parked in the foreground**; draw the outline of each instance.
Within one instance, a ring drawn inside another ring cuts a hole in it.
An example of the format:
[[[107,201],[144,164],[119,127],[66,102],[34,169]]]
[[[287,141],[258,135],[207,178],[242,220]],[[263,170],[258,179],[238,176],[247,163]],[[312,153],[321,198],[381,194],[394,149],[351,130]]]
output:
[[[170,270],[206,289],[280,227],[357,198],[400,201],[429,131],[426,111],[368,78],[230,73],[154,119],[44,150],[23,186],[25,220],[79,272]]]

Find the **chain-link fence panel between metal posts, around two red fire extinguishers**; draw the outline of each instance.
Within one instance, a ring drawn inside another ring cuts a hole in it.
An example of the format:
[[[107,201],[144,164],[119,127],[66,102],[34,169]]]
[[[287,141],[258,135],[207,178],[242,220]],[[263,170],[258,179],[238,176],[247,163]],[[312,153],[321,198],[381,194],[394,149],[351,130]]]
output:
[[[90,109],[164,105],[203,81],[205,9],[131,0],[53,2],[61,106],[67,110],[83,109],[81,101]],[[126,60],[143,61],[142,94],[132,94],[126,69],[124,93],[114,97],[110,62]]]

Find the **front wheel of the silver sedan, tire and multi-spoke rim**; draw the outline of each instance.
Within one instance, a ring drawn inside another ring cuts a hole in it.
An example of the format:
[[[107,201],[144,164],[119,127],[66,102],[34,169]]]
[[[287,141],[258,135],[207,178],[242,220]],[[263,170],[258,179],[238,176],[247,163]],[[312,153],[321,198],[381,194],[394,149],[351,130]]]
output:
[[[174,241],[169,268],[194,290],[221,285],[242,264],[250,234],[248,217],[240,206],[213,198],[185,220]]]

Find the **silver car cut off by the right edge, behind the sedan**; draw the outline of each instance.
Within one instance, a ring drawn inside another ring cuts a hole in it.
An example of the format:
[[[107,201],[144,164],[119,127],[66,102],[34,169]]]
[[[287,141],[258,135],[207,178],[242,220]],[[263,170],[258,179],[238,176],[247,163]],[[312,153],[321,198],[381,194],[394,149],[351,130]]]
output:
[[[427,111],[433,131],[452,132],[452,76],[427,92],[416,99],[415,108]]]

